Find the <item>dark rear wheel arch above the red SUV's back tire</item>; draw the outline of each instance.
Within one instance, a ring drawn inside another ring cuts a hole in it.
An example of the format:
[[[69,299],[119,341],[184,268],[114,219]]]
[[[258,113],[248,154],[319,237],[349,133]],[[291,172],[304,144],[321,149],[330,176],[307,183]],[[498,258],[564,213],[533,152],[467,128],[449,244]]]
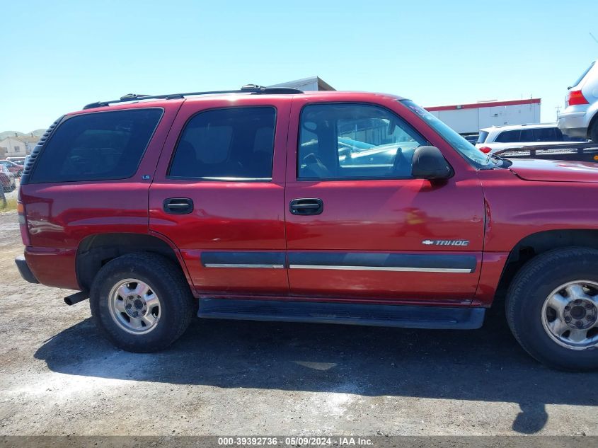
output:
[[[114,258],[133,252],[159,253],[171,260],[183,271],[192,289],[190,277],[178,248],[159,234],[110,233],[86,236],[77,248],[76,277],[83,291],[91,289],[91,283],[100,269]]]

